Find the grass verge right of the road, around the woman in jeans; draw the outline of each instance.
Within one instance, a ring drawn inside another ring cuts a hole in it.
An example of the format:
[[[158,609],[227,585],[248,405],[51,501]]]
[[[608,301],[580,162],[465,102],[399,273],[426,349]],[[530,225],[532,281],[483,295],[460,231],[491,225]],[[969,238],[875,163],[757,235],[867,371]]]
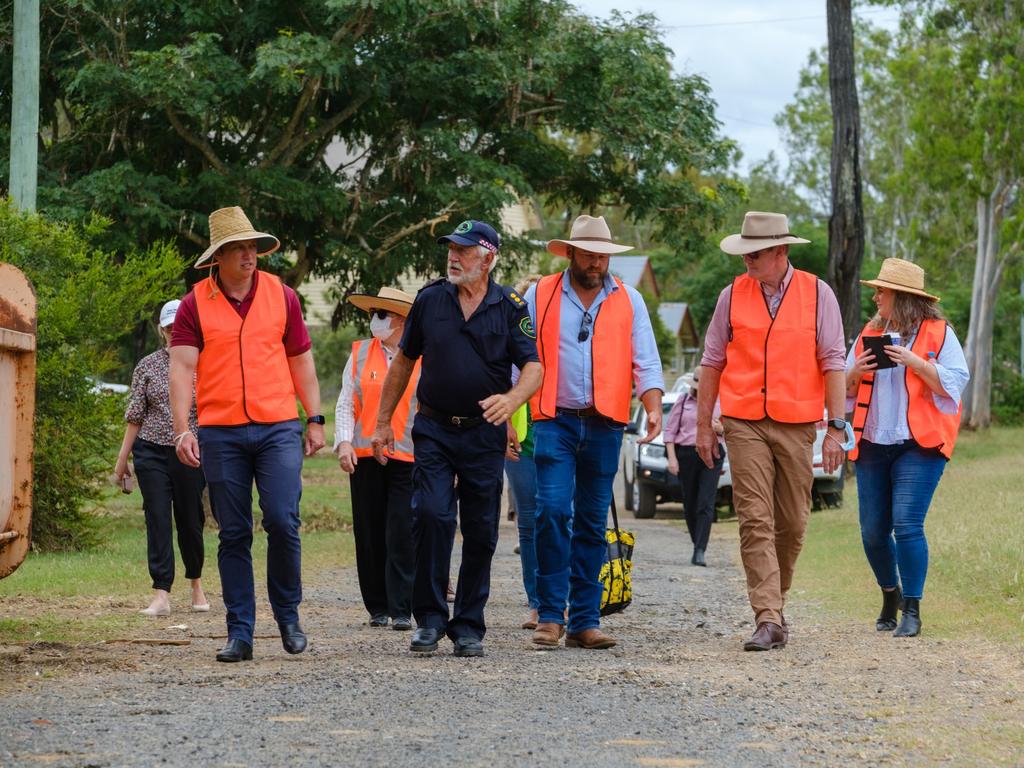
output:
[[[922,615],[932,637],[1024,644],[1024,429],[961,435],[932,501]],[[857,522],[856,482],[841,509],[811,516],[794,589],[824,609],[872,620],[881,604]]]

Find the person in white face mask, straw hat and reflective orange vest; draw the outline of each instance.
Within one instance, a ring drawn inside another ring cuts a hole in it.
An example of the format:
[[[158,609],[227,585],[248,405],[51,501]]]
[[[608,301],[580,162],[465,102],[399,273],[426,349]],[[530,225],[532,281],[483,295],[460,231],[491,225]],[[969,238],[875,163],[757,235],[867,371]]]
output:
[[[334,453],[350,476],[355,565],[370,626],[387,627],[390,621],[392,629],[406,631],[413,629],[416,577],[411,502],[419,361],[391,417],[394,453],[386,464],[373,461],[371,440],[384,378],[414,299],[403,291],[382,288],[376,296],[353,294],[348,300],[370,313],[373,338],[354,342],[345,364],[335,409]]]

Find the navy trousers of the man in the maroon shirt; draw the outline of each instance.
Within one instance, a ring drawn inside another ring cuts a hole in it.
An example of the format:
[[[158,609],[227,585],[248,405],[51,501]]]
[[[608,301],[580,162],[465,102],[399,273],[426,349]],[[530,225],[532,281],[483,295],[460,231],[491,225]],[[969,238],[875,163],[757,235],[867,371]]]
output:
[[[253,584],[253,480],[267,536],[266,587],[279,624],[299,621],[302,549],[302,425],[200,427],[200,461],[220,524],[217,565],[227,609],[227,637],[250,645],[256,625]]]

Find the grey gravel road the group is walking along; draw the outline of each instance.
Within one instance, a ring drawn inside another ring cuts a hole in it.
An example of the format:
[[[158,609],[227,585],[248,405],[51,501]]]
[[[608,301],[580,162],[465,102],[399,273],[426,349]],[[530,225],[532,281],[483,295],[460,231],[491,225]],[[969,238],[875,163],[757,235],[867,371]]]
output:
[[[786,609],[787,648],[744,653],[752,628],[735,524],[715,526],[708,568],[689,564],[678,522],[628,527],[635,601],[605,620],[620,641],[611,650],[531,648],[519,629],[515,532],[503,522],[483,658],[456,658],[446,642],[413,656],[410,633],[367,626],[354,571],[310,574],[310,648],[300,656],[261,637],[254,662],[215,663],[217,613],[155,622],[148,636],[190,637],[187,646],[0,653],[0,669],[23,680],[0,697],[0,764],[964,764],[963,729],[1024,722],[1020,658],[983,648],[967,660],[927,637],[897,643],[870,621],[837,625],[799,600]],[[169,629],[179,623],[187,629]],[[257,635],[273,631],[264,603]],[[84,664],[33,681],[48,653]],[[939,734],[940,754],[899,736],[919,729]]]

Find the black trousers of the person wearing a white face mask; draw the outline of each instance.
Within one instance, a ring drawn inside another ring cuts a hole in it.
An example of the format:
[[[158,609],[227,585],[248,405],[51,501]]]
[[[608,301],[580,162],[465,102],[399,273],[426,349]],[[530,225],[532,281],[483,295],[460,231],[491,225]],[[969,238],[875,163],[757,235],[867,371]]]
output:
[[[359,458],[350,475],[355,567],[370,615],[413,613],[413,464]]]

